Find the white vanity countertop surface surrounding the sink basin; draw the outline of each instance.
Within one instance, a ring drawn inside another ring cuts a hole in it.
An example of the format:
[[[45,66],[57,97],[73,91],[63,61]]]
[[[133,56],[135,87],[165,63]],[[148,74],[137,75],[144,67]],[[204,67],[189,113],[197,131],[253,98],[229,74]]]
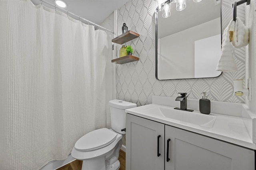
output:
[[[170,125],[177,128],[182,128],[184,130],[189,130],[198,134],[230,142],[232,144],[237,144],[246,148],[256,150],[256,144],[252,142],[252,138],[248,133],[244,125],[242,117],[235,117],[230,115],[221,115],[217,113],[210,113],[210,115],[216,116],[216,120],[212,128],[202,127],[200,125],[194,125],[191,123],[186,123],[178,121],[175,119],[164,118],[159,115],[147,114],[146,110],[153,109],[155,107],[166,107],[174,108],[171,106],[164,106],[158,104],[144,105],[140,107],[134,107],[131,109],[126,109],[126,113],[150,119],[159,123]],[[194,111],[195,113],[200,113],[199,111]],[[200,113],[201,114],[201,113]]]

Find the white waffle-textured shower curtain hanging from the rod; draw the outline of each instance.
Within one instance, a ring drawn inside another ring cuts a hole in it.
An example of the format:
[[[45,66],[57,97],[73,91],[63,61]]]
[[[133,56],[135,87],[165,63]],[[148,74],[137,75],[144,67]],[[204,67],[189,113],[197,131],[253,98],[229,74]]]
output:
[[[111,57],[106,32],[29,0],[0,0],[1,170],[63,160],[81,136],[110,127]]]

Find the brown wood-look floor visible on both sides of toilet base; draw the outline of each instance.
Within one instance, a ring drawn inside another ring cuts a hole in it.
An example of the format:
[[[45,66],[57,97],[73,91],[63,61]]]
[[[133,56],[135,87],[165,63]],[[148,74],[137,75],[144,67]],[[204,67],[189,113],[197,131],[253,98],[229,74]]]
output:
[[[120,150],[119,158],[120,168],[119,170],[125,170],[125,152]],[[65,166],[58,168],[57,170],[81,170],[82,169],[82,160],[74,160]]]

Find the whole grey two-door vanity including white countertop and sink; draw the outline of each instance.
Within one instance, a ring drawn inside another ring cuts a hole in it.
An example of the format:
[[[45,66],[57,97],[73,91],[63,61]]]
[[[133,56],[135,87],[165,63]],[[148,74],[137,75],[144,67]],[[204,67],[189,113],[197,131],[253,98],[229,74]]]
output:
[[[256,146],[242,117],[204,115],[197,106],[193,113],[177,111],[178,103],[152,101],[126,110],[126,170],[255,169]]]

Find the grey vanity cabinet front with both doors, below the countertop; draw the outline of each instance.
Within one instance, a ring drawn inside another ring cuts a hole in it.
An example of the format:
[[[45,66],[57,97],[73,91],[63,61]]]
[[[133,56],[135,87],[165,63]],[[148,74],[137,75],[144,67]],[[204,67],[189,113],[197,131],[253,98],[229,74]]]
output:
[[[254,170],[254,166],[254,150],[126,115],[126,170]]]

